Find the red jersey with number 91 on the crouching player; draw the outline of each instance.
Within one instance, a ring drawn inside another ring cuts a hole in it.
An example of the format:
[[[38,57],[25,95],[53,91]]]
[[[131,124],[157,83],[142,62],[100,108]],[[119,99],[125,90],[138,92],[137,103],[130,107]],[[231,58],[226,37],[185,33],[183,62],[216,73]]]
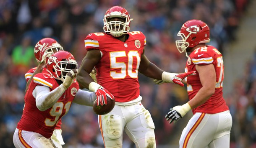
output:
[[[72,83],[59,100],[45,111],[38,110],[36,100],[32,94],[34,88],[38,85],[49,87],[50,91],[59,86],[57,81],[49,73],[36,74],[24,97],[25,105],[23,114],[21,120],[18,122],[17,128],[36,132],[46,138],[50,138],[57,122],[68,112],[78,92],[79,85],[77,82]]]

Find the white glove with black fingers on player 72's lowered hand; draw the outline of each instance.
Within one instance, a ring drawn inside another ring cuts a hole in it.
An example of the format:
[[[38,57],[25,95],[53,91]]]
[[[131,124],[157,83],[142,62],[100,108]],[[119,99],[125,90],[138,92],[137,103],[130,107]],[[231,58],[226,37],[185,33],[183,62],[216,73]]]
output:
[[[170,112],[167,113],[167,115],[165,115],[165,118],[167,121],[170,120],[170,123],[172,123],[172,121],[177,121],[180,118],[184,117],[184,115],[191,110],[191,107],[188,103],[180,106],[175,106],[173,108],[170,108]]]

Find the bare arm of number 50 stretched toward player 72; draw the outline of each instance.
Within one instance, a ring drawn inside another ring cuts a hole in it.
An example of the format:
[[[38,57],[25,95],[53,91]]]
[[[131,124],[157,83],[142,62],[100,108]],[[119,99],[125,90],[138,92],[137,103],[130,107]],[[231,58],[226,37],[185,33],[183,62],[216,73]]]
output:
[[[161,79],[162,80],[162,73],[163,70],[159,69],[155,64],[151,63],[148,58],[144,54],[141,54],[141,62],[138,68],[138,71],[141,74],[144,74],[146,77],[150,77],[153,79]]]

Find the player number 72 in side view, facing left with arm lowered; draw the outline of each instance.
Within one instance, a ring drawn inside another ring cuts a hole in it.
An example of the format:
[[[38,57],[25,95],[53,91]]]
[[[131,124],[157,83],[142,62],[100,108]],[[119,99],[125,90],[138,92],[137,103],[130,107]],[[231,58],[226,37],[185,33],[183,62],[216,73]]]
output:
[[[210,30],[201,20],[185,22],[178,36],[178,51],[188,57],[185,72],[196,71],[196,75],[184,79],[189,101],[172,107],[165,117],[171,123],[188,111],[193,112],[181,134],[180,148],[229,148],[232,117],[222,92],[222,54],[214,46],[206,45]]]

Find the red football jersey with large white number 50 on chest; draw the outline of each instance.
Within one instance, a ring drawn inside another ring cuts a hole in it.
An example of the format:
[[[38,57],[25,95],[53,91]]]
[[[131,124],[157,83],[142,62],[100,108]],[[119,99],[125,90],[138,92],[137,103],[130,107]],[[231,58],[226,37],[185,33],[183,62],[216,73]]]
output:
[[[95,66],[97,82],[114,95],[116,102],[128,102],[140,94],[138,67],[146,37],[140,31],[128,35],[125,42],[106,33],[91,33],[84,40],[86,50],[101,51],[102,58]]]

